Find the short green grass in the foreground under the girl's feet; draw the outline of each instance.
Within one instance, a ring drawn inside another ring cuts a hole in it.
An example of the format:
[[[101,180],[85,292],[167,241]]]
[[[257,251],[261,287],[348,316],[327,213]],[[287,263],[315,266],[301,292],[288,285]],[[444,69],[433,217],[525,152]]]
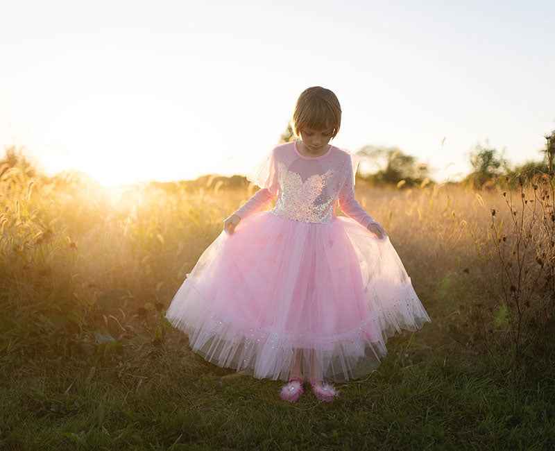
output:
[[[506,449],[554,443],[552,387],[502,380],[484,359],[430,355],[418,341],[407,350],[408,336],[391,343],[370,377],[341,386],[337,402],[303,395],[288,405],[277,396],[278,382],[216,368],[192,354],[180,334],[169,335],[142,355],[122,351],[98,366],[36,357],[17,377],[6,374],[2,445]]]

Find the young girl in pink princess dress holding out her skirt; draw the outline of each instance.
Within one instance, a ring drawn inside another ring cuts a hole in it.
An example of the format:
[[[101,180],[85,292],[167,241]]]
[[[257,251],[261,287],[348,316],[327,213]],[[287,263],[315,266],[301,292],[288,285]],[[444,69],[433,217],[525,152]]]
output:
[[[328,144],[340,125],[333,92],[300,94],[300,140],[248,176],[259,191],[225,219],[166,314],[207,361],[288,381],[289,402],[305,380],[333,400],[325,380],[370,373],[388,337],[430,321],[384,228],[355,199],[355,156]],[[337,199],[348,218],[334,215]]]

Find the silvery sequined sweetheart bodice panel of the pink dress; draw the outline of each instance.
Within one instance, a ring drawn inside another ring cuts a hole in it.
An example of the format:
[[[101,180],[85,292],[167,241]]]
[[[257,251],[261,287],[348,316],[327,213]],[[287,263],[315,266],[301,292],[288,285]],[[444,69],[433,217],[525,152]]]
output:
[[[272,213],[295,221],[330,222],[335,198],[330,196],[327,186],[335,173],[336,169],[329,169],[302,180],[298,173],[287,169],[284,164],[278,164],[280,195]]]

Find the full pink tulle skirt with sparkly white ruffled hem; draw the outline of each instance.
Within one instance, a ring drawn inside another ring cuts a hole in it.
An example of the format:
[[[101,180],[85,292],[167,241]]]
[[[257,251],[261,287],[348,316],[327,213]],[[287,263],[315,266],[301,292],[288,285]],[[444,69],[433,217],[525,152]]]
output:
[[[305,223],[259,212],[201,255],[166,314],[207,361],[257,378],[349,380],[386,341],[429,317],[389,239],[333,216]]]

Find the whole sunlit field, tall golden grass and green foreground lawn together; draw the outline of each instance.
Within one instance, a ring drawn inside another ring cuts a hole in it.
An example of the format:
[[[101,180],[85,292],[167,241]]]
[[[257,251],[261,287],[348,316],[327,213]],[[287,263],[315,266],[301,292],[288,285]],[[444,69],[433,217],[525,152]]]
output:
[[[382,365],[339,386],[336,402],[289,405],[282,382],[208,364],[164,319],[254,187],[0,174],[2,449],[555,446],[552,254],[537,252],[549,237],[528,221],[532,204],[518,207],[536,196],[541,212],[548,184],[504,196],[509,187],[357,182],[432,323],[392,337]]]

